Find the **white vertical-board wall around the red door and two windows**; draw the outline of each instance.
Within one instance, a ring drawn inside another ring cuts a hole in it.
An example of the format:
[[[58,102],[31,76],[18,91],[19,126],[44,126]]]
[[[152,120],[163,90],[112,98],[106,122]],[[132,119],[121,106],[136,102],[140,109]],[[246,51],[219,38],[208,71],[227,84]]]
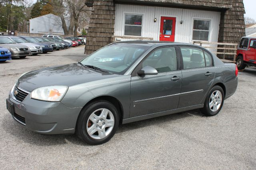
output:
[[[160,16],[176,17],[175,42],[193,43],[193,19],[210,20],[209,42],[218,42],[220,12],[116,4],[114,36],[124,36],[124,14],[143,14],[142,37],[159,40]],[[154,18],[157,19],[154,22]],[[183,20],[183,24],[180,21]],[[119,38],[121,40],[121,38]],[[127,40],[127,39],[122,39]],[[208,45],[209,46],[209,45]]]

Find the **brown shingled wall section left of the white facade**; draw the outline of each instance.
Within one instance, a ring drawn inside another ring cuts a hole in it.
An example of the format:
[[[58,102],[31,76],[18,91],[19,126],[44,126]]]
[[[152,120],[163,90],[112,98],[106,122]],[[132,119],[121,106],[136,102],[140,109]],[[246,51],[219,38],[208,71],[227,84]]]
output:
[[[114,35],[115,4],[113,0],[94,0],[85,53],[90,54],[111,43]]]

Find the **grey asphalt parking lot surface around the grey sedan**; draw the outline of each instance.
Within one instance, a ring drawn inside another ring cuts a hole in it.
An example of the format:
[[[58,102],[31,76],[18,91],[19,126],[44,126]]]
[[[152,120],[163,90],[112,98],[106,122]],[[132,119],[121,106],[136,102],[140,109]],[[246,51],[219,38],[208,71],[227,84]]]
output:
[[[22,73],[84,56],[80,46],[0,63],[1,169],[256,168],[256,68],[239,72],[236,93],[214,117],[197,109],[120,125],[98,146],[74,134],[37,134],[12,119],[5,99]]]

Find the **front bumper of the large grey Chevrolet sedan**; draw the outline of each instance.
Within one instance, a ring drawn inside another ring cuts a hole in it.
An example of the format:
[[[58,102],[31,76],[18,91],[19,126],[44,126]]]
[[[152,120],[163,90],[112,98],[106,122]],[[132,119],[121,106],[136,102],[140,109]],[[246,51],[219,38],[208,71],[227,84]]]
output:
[[[20,103],[9,94],[13,103],[14,120],[26,128],[42,134],[72,134],[82,107],[70,108],[60,102],[30,99],[30,94]]]

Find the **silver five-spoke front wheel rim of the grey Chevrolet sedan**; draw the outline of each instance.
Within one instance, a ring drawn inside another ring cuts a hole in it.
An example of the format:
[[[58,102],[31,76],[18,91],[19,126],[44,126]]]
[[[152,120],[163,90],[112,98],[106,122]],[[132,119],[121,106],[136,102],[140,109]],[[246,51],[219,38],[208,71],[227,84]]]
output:
[[[97,109],[88,118],[86,130],[91,138],[103,139],[113,130],[114,122],[114,115],[110,110]]]

